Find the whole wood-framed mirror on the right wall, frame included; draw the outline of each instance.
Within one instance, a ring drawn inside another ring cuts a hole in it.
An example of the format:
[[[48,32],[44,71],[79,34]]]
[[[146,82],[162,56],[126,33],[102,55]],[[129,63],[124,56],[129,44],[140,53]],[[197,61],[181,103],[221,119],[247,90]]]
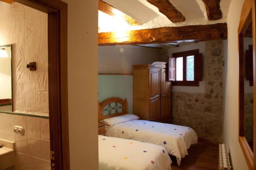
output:
[[[239,39],[239,143],[249,169],[254,169],[255,157],[255,17],[254,1],[245,0],[240,16]],[[256,95],[255,95],[256,96]]]

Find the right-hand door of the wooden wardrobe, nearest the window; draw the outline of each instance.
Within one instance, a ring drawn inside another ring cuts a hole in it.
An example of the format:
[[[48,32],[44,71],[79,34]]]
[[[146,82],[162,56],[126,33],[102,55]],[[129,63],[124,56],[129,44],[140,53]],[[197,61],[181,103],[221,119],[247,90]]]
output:
[[[170,120],[170,82],[166,70],[161,69],[161,119]]]

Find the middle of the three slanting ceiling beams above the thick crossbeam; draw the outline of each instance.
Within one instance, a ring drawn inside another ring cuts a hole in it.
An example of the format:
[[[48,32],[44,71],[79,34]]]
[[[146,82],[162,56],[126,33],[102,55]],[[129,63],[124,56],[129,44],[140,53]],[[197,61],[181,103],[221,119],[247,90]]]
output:
[[[156,6],[173,23],[184,22],[185,16],[168,0],[147,0],[148,3]]]

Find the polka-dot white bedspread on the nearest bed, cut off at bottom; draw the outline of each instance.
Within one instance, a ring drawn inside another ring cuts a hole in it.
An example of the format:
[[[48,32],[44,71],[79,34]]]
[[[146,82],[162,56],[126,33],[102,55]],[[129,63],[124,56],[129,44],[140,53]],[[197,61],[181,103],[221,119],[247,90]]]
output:
[[[99,169],[169,170],[172,160],[164,147],[136,140],[99,135]]]

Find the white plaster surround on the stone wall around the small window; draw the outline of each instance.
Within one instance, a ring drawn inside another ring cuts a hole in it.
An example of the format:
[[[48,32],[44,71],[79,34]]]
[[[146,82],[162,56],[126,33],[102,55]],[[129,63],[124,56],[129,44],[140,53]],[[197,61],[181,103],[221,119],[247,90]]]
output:
[[[193,43],[193,44],[187,44],[187,45],[181,45],[179,47],[173,47],[169,48],[168,50],[168,56],[172,57],[173,53],[178,53],[178,52],[184,52],[184,51],[189,51],[189,50],[196,50],[199,49],[199,53],[202,53],[203,55],[203,63],[204,63],[204,51],[205,51],[205,42],[198,42],[198,43]],[[204,66],[203,66],[204,69]],[[204,75],[204,71],[203,71]],[[205,90],[205,85],[204,85],[204,76],[203,80],[199,82],[199,86],[197,87],[192,87],[192,86],[173,86],[172,91],[173,92],[194,92],[194,93],[204,93]]]

